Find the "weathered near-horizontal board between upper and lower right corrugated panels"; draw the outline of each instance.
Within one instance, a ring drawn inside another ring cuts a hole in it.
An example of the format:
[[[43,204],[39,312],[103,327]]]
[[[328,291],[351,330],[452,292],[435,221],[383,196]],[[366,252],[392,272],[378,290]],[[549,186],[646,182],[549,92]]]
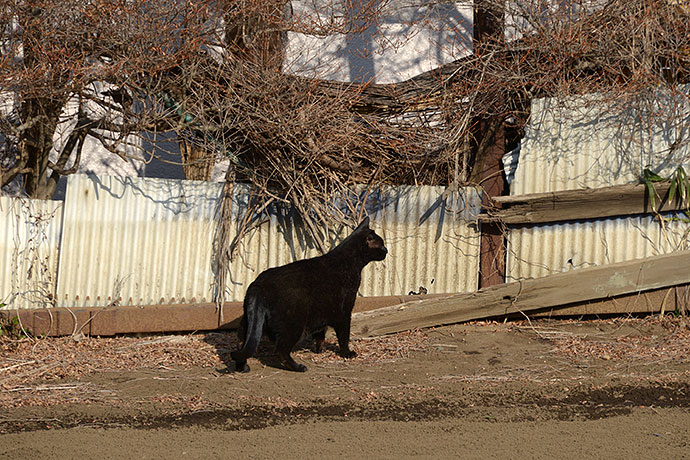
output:
[[[494,197],[503,209],[490,210],[488,214],[480,215],[479,220],[519,225],[684,209],[676,200],[669,200],[669,182],[659,182],[654,187],[654,207],[649,202],[644,184]]]

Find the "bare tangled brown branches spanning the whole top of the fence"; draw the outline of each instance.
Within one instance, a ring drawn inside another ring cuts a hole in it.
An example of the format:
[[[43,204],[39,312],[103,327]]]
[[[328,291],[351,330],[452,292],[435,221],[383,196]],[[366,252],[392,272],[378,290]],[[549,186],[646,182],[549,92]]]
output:
[[[46,177],[76,171],[87,137],[123,156],[127,136],[174,131],[187,178],[208,179],[225,160],[259,202],[289,202],[327,223],[324,203],[355,184],[480,182],[492,133],[505,130],[509,148],[533,98],[637,103],[690,79],[690,10],[678,0],[477,1],[471,49],[391,84],[290,74],[302,51],[287,46],[290,37],[368,34],[375,49],[359,51],[384,53],[414,36],[393,44],[383,30],[391,18],[407,30],[450,27],[433,20],[471,13],[468,4],[333,0],[317,11],[285,0],[190,0],[154,14],[147,2],[72,3],[5,2],[0,15],[0,84],[18,101],[14,115],[0,116],[14,149],[0,163],[2,184],[24,175],[34,196],[50,194],[38,190]],[[53,135],[74,101],[77,123],[57,149]],[[479,130],[487,121],[491,129]]]

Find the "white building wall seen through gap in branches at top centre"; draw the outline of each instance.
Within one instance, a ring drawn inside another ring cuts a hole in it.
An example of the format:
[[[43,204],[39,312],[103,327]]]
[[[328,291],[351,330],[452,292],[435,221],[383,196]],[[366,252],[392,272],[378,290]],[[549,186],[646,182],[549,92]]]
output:
[[[325,24],[328,16],[317,15],[315,8],[333,3],[296,0],[294,16]],[[358,5],[366,4],[380,7],[383,14],[364,32],[325,37],[290,33],[285,70],[338,81],[392,83],[472,52],[472,2],[354,0],[336,2],[336,8],[352,17]]]

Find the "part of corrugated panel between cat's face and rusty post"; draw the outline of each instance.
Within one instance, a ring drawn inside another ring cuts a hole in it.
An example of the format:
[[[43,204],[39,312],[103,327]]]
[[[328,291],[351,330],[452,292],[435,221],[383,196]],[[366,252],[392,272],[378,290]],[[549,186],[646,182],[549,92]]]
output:
[[[383,206],[372,227],[389,250],[383,262],[368,265],[360,293],[405,295],[423,286],[428,293],[477,289],[480,198],[475,189],[443,198],[443,187],[384,188]]]

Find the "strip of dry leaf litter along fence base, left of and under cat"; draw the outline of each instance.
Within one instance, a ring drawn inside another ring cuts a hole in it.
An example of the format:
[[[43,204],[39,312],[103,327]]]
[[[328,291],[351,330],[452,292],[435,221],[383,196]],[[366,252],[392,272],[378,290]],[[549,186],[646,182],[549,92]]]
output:
[[[353,343],[358,356],[347,362],[378,364],[404,358],[425,349],[426,335],[418,331],[403,332],[373,340]],[[153,337],[50,337],[43,339],[0,339],[0,389],[19,391],[37,382],[79,380],[82,376],[110,371],[136,369],[170,369],[219,367],[230,360],[237,346],[234,333],[165,335]],[[262,342],[259,355],[271,354],[271,345]],[[343,363],[336,354],[334,339],[326,351],[314,354],[299,349],[295,355],[317,365]]]

